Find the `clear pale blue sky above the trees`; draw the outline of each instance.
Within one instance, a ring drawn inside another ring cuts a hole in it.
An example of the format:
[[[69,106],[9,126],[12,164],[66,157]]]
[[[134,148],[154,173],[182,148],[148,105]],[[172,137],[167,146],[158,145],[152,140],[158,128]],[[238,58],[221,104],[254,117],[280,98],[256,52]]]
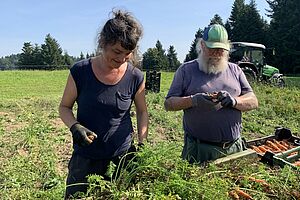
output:
[[[205,2],[205,3],[204,3]],[[182,62],[196,31],[215,14],[225,22],[234,0],[3,0],[0,6],[0,57],[21,53],[24,42],[41,45],[50,33],[72,56],[91,53],[96,36],[113,8],[126,9],[142,23],[140,52],[155,46],[175,47]],[[249,0],[246,0],[249,3]],[[256,0],[261,16],[268,19],[265,0]]]

